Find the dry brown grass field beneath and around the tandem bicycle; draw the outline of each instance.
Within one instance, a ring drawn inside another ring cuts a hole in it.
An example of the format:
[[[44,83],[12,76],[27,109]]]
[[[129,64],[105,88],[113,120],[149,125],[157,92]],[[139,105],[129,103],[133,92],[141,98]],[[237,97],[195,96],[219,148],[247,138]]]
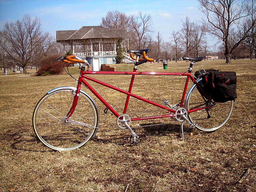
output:
[[[113,65],[132,70],[132,64]],[[185,72],[189,62],[145,63],[142,71]],[[237,73],[237,95],[228,123],[213,133],[184,126],[185,141],[178,135],[180,122],[171,118],[133,122],[142,138],[129,144],[130,133],[116,126],[116,117],[104,114],[96,101],[100,125],[96,137],[79,150],[56,152],[44,147],[35,136],[32,114],[46,91],[75,86],[68,75],[5,77],[0,71],[0,191],[256,191],[256,61],[208,60],[198,69],[221,69]],[[72,73],[78,71],[72,69]],[[76,78],[77,75],[74,75]],[[128,90],[131,76],[99,75],[97,79]],[[179,102],[184,77],[136,76],[133,93],[162,103]],[[125,95],[92,83],[93,87],[122,113]],[[191,85],[191,84],[189,84]],[[84,86],[84,91],[88,91]],[[92,94],[88,92],[91,96]],[[136,105],[136,108],[133,106]],[[131,99],[129,112],[149,106]],[[150,108],[152,110],[154,108]],[[144,114],[142,115],[144,116]],[[147,116],[147,113],[145,114]],[[146,124],[167,123],[144,126]],[[137,126],[140,124],[140,126]],[[238,183],[246,169],[249,175]]]

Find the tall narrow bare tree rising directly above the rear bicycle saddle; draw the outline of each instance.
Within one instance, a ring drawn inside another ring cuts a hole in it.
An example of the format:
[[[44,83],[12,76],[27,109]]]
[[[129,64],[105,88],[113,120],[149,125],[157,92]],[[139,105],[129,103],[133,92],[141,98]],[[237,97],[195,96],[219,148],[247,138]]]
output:
[[[181,20],[182,21],[182,20]],[[186,56],[188,56],[188,51],[190,49],[190,42],[191,42],[191,32],[192,32],[192,25],[193,23],[190,22],[189,18],[186,17],[186,21],[182,21],[183,28],[181,29],[183,42],[186,50]],[[186,60],[188,61],[188,60]]]

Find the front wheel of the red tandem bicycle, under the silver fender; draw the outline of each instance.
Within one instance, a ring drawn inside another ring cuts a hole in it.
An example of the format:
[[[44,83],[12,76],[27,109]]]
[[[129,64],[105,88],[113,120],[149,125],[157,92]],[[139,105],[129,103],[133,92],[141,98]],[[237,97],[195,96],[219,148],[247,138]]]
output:
[[[80,92],[76,109],[65,122],[73,104],[75,88],[57,88],[45,94],[33,113],[33,128],[37,138],[53,150],[72,150],[82,147],[94,136],[99,126],[95,102]]]

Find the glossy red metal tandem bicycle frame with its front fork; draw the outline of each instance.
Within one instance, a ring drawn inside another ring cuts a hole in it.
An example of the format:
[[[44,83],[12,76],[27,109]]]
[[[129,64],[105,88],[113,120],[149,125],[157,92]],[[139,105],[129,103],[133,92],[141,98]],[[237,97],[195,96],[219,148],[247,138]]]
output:
[[[104,83],[102,81],[99,81],[97,79],[94,79],[92,77],[89,77],[87,75],[90,75],[90,74],[95,74],[95,75],[132,75],[132,78],[131,78],[131,82],[130,82],[130,86],[129,86],[129,90],[128,92],[127,91],[124,91],[122,89],[119,89],[115,86],[112,86],[110,84],[107,84],[107,83]],[[127,95],[126,97],[126,101],[125,101],[125,106],[124,106],[124,111],[123,111],[123,114],[126,113],[126,110],[127,110],[127,107],[128,107],[128,103],[129,103],[129,98],[130,97],[134,97],[138,100],[142,100],[144,102],[147,102],[151,105],[154,105],[158,108],[161,108],[161,109],[165,109],[169,112],[171,112],[172,114],[167,114],[167,115],[158,115],[158,116],[147,116],[147,117],[137,117],[137,118],[131,118],[131,121],[137,121],[137,120],[145,120],[145,119],[155,119],[155,118],[163,118],[163,117],[172,117],[172,116],[175,116],[175,110],[173,109],[170,109],[168,107],[165,107],[163,105],[160,105],[160,104],[157,104],[151,100],[147,100],[145,98],[142,98],[138,95],[135,95],[132,92],[132,85],[133,85],[133,81],[134,81],[134,77],[135,75],[167,75],[167,76],[187,76],[187,79],[186,79],[186,83],[185,83],[185,86],[184,86],[184,90],[183,90],[183,94],[182,94],[182,98],[181,98],[181,102],[180,102],[180,107],[183,107],[183,104],[184,104],[184,101],[185,101],[185,96],[186,96],[186,91],[187,91],[187,87],[188,87],[188,82],[189,82],[189,79],[192,80],[192,82],[194,84],[196,84],[199,89],[201,90],[201,92],[204,94],[204,97],[203,98],[206,98],[206,100],[210,100],[210,98],[204,93],[204,91],[202,90],[202,88],[200,87],[200,85],[196,82],[196,80],[193,78],[193,76],[191,76],[191,72],[188,71],[187,73],[171,73],[171,72],[137,72],[136,69],[134,69],[132,72],[124,72],[124,71],[84,71],[83,69],[81,69],[81,72],[80,72],[80,76],[79,76],[79,79],[78,79],[78,84],[77,84],[77,90],[76,90],[76,95],[74,97],[74,101],[73,101],[73,105],[69,111],[69,113],[67,114],[67,119],[70,118],[72,116],[72,113],[75,111],[75,108],[76,108],[76,104],[77,104],[77,100],[78,100],[78,97],[79,97],[79,92],[80,92],[80,88],[81,88],[81,84],[83,83],[116,117],[118,117],[120,114],[118,114],[114,108],[112,108],[108,102],[106,100],[104,100],[100,94],[98,92],[96,92],[92,86],[87,82],[85,81],[84,79],[87,79],[87,80],[90,80],[92,82],[95,82],[95,83],[98,83],[98,84],[101,84],[103,86],[106,86],[108,88],[111,88],[113,90],[116,90],[118,92],[121,92],[121,93],[124,93]],[[205,100],[205,99],[204,99]],[[188,110],[187,112],[188,113],[191,113],[191,112],[194,112],[194,111],[197,111],[197,110],[202,110],[202,109],[205,109],[205,108],[209,108],[209,107],[212,107],[212,106],[208,106],[208,107],[203,107],[203,108],[195,108],[195,109],[191,109],[191,110]]]

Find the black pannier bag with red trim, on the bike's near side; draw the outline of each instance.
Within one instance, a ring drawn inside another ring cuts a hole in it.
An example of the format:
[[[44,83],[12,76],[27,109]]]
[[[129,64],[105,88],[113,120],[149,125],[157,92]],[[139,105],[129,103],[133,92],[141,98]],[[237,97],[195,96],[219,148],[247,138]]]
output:
[[[204,92],[214,102],[225,103],[235,100],[236,94],[236,72],[215,71],[202,76]]]

